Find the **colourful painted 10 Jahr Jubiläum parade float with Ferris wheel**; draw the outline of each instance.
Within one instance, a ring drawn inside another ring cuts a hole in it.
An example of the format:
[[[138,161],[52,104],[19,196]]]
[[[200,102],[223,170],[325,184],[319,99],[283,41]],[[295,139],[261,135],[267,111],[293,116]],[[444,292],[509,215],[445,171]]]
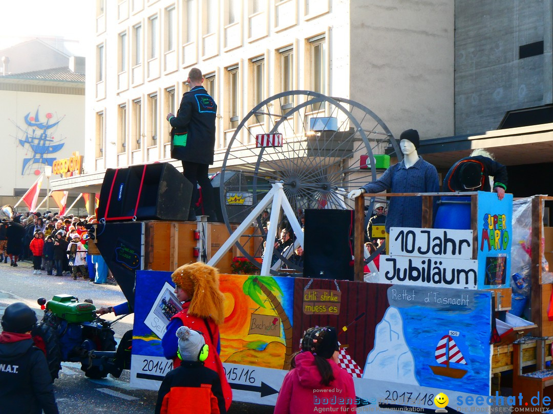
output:
[[[225,224],[141,216],[140,191],[131,197],[128,181],[105,182],[109,197],[115,190],[113,200],[132,201],[129,211],[98,214],[91,243],[134,308],[132,386],[157,390],[172,369],[161,349],[165,327],[180,309],[170,275],[205,261],[221,273],[220,356],[236,401],[274,405],[302,333],[331,325],[340,332],[340,365],[354,377],[359,412],[435,411],[439,394],[446,395],[439,407],[447,412],[547,408],[553,277],[545,257],[553,233],[543,221],[552,198],[365,194],[353,206],[345,194],[388,165],[373,151],[393,147],[400,159],[397,143],[362,105],[309,91],[268,98],[229,134],[215,186]],[[144,172],[141,181],[137,171],[141,183]],[[422,199],[422,226],[390,229],[377,269],[363,243],[365,204],[372,211],[377,197],[406,195]],[[445,196],[465,198],[463,211],[447,212]],[[439,228],[436,208],[450,218]],[[268,222],[261,219],[265,209]],[[349,209],[351,269],[303,277],[309,272],[290,260],[298,246],[309,254],[312,209]],[[293,243],[287,250],[267,243],[260,258],[263,240],[278,237],[283,217]],[[238,257],[254,264],[255,274],[230,274]]]

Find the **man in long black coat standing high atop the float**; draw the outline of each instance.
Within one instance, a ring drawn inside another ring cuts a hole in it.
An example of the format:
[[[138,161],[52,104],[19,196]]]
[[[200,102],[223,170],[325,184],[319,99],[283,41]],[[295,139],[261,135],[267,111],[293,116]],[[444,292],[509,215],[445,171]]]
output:
[[[198,68],[190,70],[187,82],[190,91],[182,95],[177,115],[167,115],[167,120],[173,127],[171,157],[182,161],[182,173],[192,183],[189,220],[196,220],[194,205],[197,199],[197,184],[200,184],[204,214],[209,216],[209,221],[217,221],[213,187],[207,176],[215,151],[217,104],[202,86],[204,76]]]

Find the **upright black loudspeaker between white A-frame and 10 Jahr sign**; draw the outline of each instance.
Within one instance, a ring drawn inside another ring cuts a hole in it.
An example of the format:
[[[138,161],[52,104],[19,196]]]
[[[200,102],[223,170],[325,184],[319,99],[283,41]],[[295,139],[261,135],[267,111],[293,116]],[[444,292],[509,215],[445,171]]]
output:
[[[353,214],[304,211],[304,278],[353,280]]]

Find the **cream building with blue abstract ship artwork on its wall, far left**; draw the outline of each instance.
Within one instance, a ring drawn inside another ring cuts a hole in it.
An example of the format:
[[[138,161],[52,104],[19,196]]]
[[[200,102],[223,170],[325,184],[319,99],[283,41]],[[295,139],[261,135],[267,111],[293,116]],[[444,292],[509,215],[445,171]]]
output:
[[[27,58],[37,50],[44,60],[33,66]],[[40,40],[5,49],[0,56],[9,59],[6,75],[0,76],[0,203],[13,205],[45,166],[84,152],[85,63]],[[14,73],[17,68],[24,71]],[[44,179],[41,199],[46,184]]]

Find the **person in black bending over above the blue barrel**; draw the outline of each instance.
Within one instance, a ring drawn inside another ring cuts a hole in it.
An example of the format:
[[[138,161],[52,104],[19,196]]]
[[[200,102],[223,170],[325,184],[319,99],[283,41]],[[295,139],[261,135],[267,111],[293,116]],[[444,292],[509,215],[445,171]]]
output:
[[[491,191],[489,177],[493,177],[493,191],[503,200],[507,189],[507,167],[493,160],[486,150],[472,151],[469,157],[457,161],[444,178],[443,191]]]

